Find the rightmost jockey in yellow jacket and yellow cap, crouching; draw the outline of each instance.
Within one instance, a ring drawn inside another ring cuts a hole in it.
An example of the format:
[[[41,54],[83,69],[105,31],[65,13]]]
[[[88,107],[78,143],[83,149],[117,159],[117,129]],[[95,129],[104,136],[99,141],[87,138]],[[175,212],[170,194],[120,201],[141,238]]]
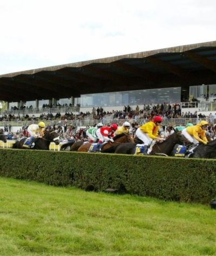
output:
[[[182,131],[182,134],[185,136],[186,139],[190,140],[190,142],[194,144],[198,144],[199,142],[207,144],[208,143],[208,140],[206,138],[207,126],[208,126],[207,121],[201,121],[197,125],[187,126]]]

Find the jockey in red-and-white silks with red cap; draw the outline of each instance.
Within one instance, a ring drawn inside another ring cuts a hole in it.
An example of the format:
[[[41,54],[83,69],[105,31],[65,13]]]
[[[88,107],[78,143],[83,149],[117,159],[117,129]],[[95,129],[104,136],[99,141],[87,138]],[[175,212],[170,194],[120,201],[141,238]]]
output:
[[[114,132],[118,129],[117,124],[111,124],[110,127],[102,127],[96,131],[96,135],[99,138],[99,142],[97,144],[96,150],[99,150],[100,145],[105,142],[114,142],[112,139],[114,137]],[[111,139],[108,137],[110,136]]]

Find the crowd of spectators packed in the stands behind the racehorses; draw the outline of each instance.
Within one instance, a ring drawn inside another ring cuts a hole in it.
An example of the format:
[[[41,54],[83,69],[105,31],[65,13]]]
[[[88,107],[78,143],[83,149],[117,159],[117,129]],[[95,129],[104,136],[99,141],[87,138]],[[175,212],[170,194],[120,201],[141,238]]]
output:
[[[46,105],[44,105],[46,107]],[[48,108],[50,107],[47,106]],[[53,107],[53,105],[52,105]],[[209,114],[208,116],[205,116],[203,113],[197,113],[197,111],[192,112],[181,112],[180,104],[144,104],[143,108],[140,109],[139,106],[136,106],[134,110],[127,105],[123,107],[123,110],[112,110],[112,111],[105,111],[102,107],[93,107],[92,111],[86,111],[85,113],[80,112],[79,114],[73,114],[72,112],[65,112],[65,114],[61,114],[60,112],[57,112],[55,115],[51,112],[48,113],[42,113],[39,117],[35,117],[33,114],[32,116],[29,116],[29,114],[25,114],[25,116],[21,117],[20,114],[17,114],[16,116],[14,114],[3,114],[2,117],[0,117],[0,121],[12,121],[12,120],[63,120],[63,125],[58,125],[57,127],[55,125],[52,126],[54,130],[56,130],[60,136],[61,142],[71,142],[71,141],[77,141],[77,140],[87,140],[86,138],[86,130],[89,129],[89,126],[86,126],[84,129],[80,129],[79,131],[76,131],[76,126],[68,125],[68,120],[83,120],[86,117],[90,117],[90,119],[93,121],[92,123],[94,126],[101,122],[104,125],[106,125],[106,118],[107,115],[111,116],[111,119],[118,120],[118,124],[122,125],[124,121],[129,121],[131,123],[131,129],[130,133],[132,135],[135,134],[137,128],[140,126],[139,119],[146,119],[151,120],[156,115],[160,115],[163,117],[163,119],[169,119],[172,123],[173,118],[185,118],[185,119],[192,119],[192,118],[198,118],[202,119],[205,118],[209,123],[210,126],[208,127],[208,132],[212,137],[215,136],[215,130],[216,130],[216,113],[215,115]],[[94,122],[95,121],[95,122]],[[182,124],[185,126],[185,124]],[[162,128],[161,128],[162,129]],[[166,129],[166,136],[168,136],[168,133],[172,131],[173,127],[172,125],[168,125]],[[1,129],[3,130],[3,129]],[[22,127],[22,129],[17,130],[17,132],[11,132],[9,127],[4,127],[3,132],[5,135],[8,136],[8,139],[21,139],[22,137],[26,136],[26,129],[25,127]],[[163,131],[161,130],[163,133]],[[164,130],[165,132],[165,130]],[[27,135],[28,136],[28,135]]]

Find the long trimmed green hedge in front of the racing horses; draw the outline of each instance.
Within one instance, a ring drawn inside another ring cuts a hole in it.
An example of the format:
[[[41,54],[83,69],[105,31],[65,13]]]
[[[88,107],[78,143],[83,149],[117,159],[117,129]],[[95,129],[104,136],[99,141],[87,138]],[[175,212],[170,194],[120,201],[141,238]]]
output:
[[[213,159],[0,149],[0,175],[85,189],[95,185],[159,199],[209,203],[216,197]]]

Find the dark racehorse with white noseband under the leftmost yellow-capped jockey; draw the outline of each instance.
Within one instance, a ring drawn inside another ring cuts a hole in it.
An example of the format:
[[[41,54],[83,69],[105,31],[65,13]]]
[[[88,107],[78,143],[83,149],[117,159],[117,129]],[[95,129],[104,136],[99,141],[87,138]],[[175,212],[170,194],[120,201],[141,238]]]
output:
[[[16,141],[12,146],[12,149],[37,149],[37,150],[50,150],[50,143],[54,142],[56,145],[59,145],[59,136],[57,132],[53,129],[45,130],[44,136],[42,138],[34,139],[35,145],[33,147],[25,146],[25,141],[27,138],[23,138],[19,141]]]

